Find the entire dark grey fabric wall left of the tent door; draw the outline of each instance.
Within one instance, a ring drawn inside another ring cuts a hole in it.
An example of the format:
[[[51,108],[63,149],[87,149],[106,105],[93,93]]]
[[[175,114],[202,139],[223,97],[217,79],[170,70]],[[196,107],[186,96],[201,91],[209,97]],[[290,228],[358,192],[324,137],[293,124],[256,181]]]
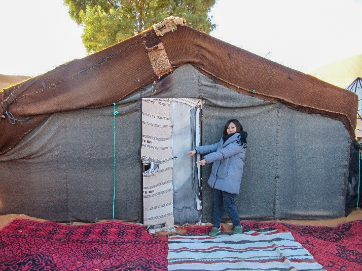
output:
[[[115,216],[141,221],[140,102],[117,106],[117,110]],[[0,163],[4,176],[14,167],[12,176],[6,177],[10,182],[0,182],[7,185],[2,190],[7,203],[3,214],[25,213],[56,221],[112,218],[113,106],[51,115],[2,159],[20,156]],[[10,189],[13,186],[19,190]]]

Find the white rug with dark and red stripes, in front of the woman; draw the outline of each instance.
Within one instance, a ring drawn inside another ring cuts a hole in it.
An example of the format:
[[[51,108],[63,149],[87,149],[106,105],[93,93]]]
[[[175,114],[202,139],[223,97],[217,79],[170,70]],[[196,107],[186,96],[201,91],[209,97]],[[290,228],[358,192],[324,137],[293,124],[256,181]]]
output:
[[[168,270],[325,270],[290,232],[248,230],[243,234],[172,235]]]

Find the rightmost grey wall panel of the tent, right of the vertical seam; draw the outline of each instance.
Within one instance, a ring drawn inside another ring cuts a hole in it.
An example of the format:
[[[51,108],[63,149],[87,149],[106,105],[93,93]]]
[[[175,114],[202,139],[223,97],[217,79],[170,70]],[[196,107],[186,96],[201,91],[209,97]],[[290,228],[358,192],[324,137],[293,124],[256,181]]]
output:
[[[344,216],[350,137],[343,123],[286,106],[277,120],[275,217]]]

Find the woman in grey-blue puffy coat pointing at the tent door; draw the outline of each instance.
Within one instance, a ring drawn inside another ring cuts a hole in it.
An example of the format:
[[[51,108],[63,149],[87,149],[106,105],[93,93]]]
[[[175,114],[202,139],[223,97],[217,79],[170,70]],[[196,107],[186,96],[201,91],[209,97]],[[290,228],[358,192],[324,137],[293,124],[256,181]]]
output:
[[[207,184],[213,189],[213,228],[209,236],[221,233],[223,206],[233,225],[233,234],[242,233],[239,212],[236,207],[236,195],[240,192],[241,175],[246,153],[247,132],[237,119],[226,122],[220,142],[196,147],[188,152],[190,156],[206,154],[197,161],[201,166],[213,163]]]

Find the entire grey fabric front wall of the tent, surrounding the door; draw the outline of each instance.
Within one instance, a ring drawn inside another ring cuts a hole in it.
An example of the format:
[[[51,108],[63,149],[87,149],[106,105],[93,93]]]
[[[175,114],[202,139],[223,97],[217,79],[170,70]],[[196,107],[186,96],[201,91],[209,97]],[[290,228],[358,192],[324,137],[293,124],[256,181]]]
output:
[[[242,219],[335,218],[355,204],[354,148],[341,121],[240,94],[183,65],[117,104],[116,219],[143,220],[141,100],[151,97],[202,99],[204,145],[220,140],[228,119],[241,121],[249,135],[237,197]],[[113,112],[112,105],[53,113],[0,156],[1,214],[56,221],[111,219]],[[206,183],[210,169],[202,167],[200,176],[203,221],[212,219],[212,191]],[[179,187],[181,197],[174,195],[179,209],[174,208],[175,220],[198,221],[197,206],[190,201],[197,184],[198,179],[190,180]]]

